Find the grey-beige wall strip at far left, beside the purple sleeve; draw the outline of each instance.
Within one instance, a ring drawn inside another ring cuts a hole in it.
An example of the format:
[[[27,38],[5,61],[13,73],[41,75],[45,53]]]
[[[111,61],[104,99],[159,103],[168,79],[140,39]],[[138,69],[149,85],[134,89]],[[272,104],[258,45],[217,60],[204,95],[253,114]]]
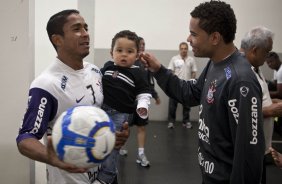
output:
[[[0,183],[29,183],[30,161],[21,156],[16,136],[34,75],[32,1],[2,0],[0,6]]]

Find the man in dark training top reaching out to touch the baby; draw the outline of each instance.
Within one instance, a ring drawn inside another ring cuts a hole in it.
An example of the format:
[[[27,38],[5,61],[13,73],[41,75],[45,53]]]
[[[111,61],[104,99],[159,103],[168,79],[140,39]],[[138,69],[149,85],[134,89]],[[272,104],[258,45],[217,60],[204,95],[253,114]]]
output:
[[[262,91],[233,40],[236,18],[222,1],[191,12],[190,42],[210,61],[197,82],[180,80],[149,53],[144,64],[159,86],[182,104],[199,106],[198,159],[204,184],[259,184],[264,156]]]

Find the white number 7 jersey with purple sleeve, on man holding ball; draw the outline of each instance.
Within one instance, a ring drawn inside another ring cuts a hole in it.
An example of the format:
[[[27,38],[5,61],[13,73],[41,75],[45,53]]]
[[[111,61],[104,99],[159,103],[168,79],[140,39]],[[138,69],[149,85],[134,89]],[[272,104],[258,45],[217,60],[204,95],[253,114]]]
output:
[[[59,59],[50,65],[31,84],[27,111],[17,136],[23,139],[41,139],[50,135],[58,116],[66,109],[77,105],[103,103],[102,75],[98,67],[84,62],[84,68],[73,70]],[[85,174],[71,174],[47,165],[48,183],[83,183],[94,180],[97,168]]]

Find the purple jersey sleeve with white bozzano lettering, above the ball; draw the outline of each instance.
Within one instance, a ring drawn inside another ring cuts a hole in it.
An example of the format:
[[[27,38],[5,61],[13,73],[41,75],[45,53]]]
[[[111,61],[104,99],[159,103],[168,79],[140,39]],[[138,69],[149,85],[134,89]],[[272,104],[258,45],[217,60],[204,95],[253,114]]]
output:
[[[58,102],[52,94],[41,88],[31,88],[27,111],[16,138],[17,143],[27,138],[41,139],[57,109]]]

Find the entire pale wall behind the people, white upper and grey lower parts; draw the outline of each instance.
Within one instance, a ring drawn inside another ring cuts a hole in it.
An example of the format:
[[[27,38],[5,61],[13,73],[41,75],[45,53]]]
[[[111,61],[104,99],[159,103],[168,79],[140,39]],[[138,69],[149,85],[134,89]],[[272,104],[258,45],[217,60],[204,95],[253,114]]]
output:
[[[35,172],[34,162],[18,153],[15,138],[26,108],[30,82],[56,56],[45,30],[47,20],[52,14],[68,8],[77,8],[81,11],[89,24],[91,46],[94,51],[86,61],[101,66],[110,58],[108,53],[114,34],[122,29],[130,29],[142,35],[146,40],[147,51],[153,52],[167,66],[170,58],[178,53],[179,42],[186,40],[189,33],[189,13],[200,2],[203,1],[2,0],[0,183],[46,183],[45,167],[39,166]],[[227,0],[227,2],[232,5],[237,15],[238,31],[235,40],[237,46],[248,29],[264,25],[276,33],[273,50],[282,53],[280,0]],[[207,60],[196,58],[196,61],[200,73]],[[267,67],[263,69],[265,76],[271,78],[272,71]],[[150,118],[165,120],[167,97],[158,86],[157,90],[162,104],[159,107],[152,105]],[[192,117],[195,120],[197,114],[197,109],[193,109]]]

